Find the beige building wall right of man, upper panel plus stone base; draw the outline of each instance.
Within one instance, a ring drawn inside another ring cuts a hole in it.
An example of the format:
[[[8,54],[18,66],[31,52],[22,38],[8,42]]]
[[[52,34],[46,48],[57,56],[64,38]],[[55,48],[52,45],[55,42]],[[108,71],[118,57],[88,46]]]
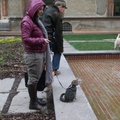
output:
[[[81,31],[120,31],[120,18],[107,17],[107,0],[65,0],[68,9],[64,22],[72,26],[73,33]]]

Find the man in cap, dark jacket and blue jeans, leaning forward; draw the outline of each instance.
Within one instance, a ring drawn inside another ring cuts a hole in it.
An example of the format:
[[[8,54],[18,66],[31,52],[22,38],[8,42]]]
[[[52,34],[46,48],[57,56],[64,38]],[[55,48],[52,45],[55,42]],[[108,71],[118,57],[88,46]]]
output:
[[[64,0],[55,0],[52,6],[48,6],[42,15],[42,21],[45,25],[48,37],[53,51],[52,68],[55,75],[59,75],[60,58],[63,53],[63,28],[62,19],[66,9]]]

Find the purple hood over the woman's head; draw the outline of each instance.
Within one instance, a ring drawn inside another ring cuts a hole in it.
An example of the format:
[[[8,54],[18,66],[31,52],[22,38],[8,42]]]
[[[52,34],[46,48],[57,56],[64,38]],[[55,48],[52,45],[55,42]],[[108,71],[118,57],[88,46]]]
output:
[[[27,14],[31,18],[33,18],[35,13],[37,12],[37,10],[39,10],[40,7],[42,7],[42,6],[45,7],[45,3],[42,0],[30,0],[28,9],[27,9]]]

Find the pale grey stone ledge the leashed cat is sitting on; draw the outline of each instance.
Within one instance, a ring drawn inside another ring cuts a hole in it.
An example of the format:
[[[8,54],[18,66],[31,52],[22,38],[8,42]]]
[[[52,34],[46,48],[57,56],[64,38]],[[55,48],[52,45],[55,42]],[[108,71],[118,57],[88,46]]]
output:
[[[77,87],[77,99],[72,103],[63,103],[59,100],[62,93],[65,92],[58,81],[67,88],[71,81],[76,79],[65,57],[61,57],[60,65],[61,75],[54,76],[53,99],[55,107],[56,120],[97,120],[85,94],[80,86]]]

